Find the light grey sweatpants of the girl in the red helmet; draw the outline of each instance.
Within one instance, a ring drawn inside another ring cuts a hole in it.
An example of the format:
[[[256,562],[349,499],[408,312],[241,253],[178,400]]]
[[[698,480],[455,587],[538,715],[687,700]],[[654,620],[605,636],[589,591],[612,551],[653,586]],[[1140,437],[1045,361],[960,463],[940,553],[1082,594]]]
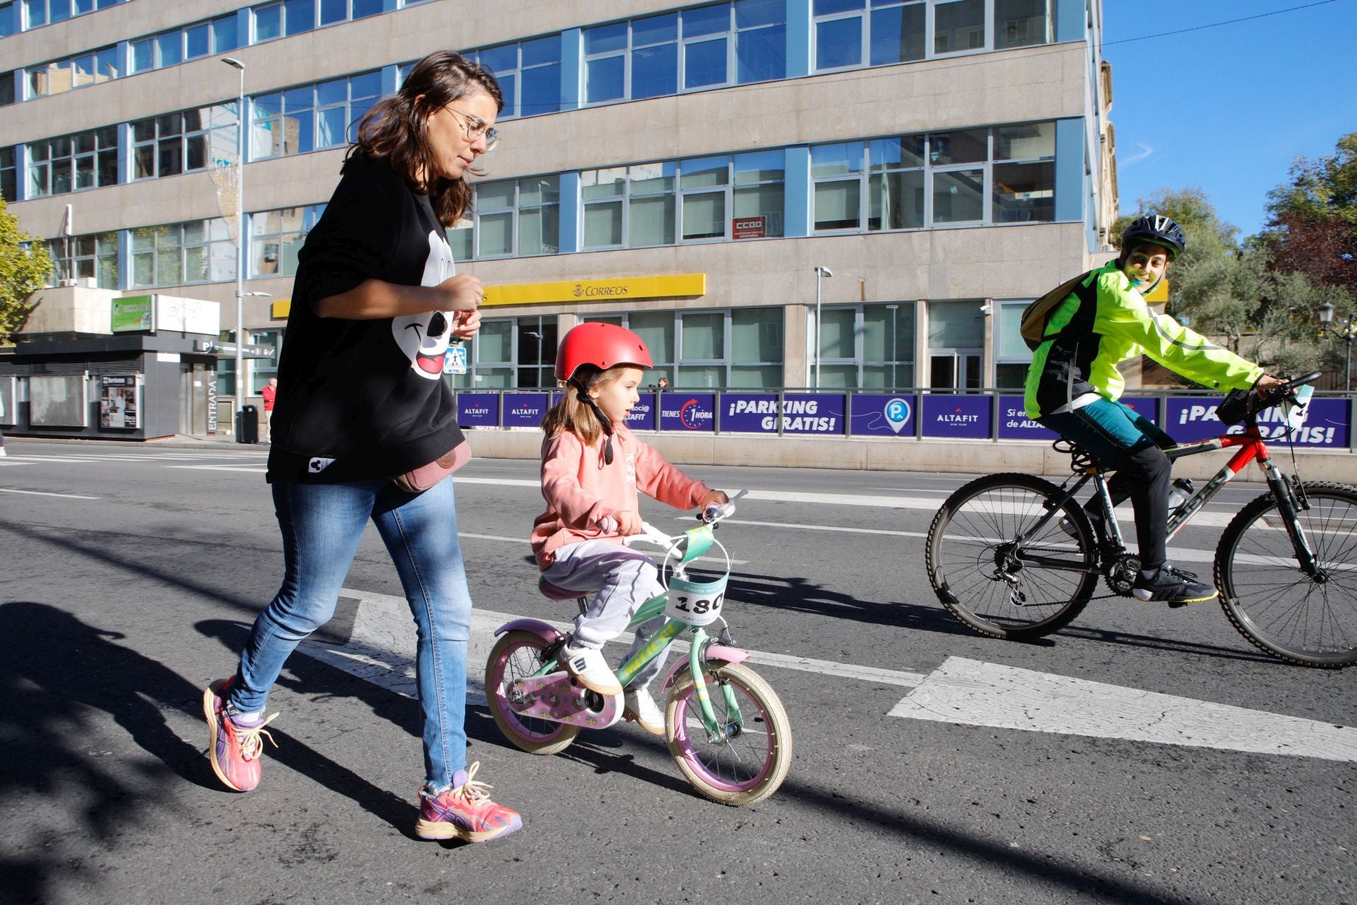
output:
[[[559,548],[541,577],[566,590],[578,590],[581,596],[594,594],[589,609],[575,616],[573,643],[578,647],[603,647],[627,630],[643,602],[664,592],[660,569],[650,556],[608,540],[584,540]],[[622,662],[641,650],[664,624],[661,615],[638,625],[636,638]],[[666,650],[642,666],[630,688],[649,685],[668,657]]]

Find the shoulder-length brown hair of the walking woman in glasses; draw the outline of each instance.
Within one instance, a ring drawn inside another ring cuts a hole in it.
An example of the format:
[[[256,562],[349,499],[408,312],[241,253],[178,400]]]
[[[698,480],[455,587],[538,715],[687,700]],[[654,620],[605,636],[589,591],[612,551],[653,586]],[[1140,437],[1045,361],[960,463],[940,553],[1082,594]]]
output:
[[[494,73],[452,50],[430,53],[410,71],[400,91],[372,104],[358,121],[358,138],[349,145],[345,160],[364,153],[388,161],[411,189],[430,197],[444,227],[453,225],[471,206],[471,186],[465,179],[427,182],[427,174],[433,172],[433,151],[425,129],[430,114],[471,91],[484,91],[495,107],[503,110],[503,92]]]

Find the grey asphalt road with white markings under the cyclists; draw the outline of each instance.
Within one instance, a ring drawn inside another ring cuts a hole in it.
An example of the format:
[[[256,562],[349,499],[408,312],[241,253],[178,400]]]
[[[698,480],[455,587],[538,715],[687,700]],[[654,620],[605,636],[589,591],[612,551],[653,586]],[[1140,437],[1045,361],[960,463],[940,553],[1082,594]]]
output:
[[[978,638],[924,571],[927,501],[965,476],[693,469],[765,491],[719,537],[742,560],[727,596],[735,640],[782,657],[756,669],[791,718],[786,784],[722,807],[631,725],[533,757],[474,707],[468,760],[524,829],[457,845],[413,836],[415,703],[315,655],[294,655],[270,697],[278,748],[261,787],[229,794],[212,775],[201,689],[232,670],[282,569],[262,452],[8,448],[0,901],[1357,900],[1357,730],[1335,729],[1357,726],[1357,672],[1272,661],[1215,605],[1096,600],[1038,643]],[[569,619],[571,604],[536,593],[516,540],[543,507],[536,464],[474,460],[457,480],[476,606]],[[1229,486],[1209,512],[1257,493]],[[688,518],[657,503],[645,514],[676,529]],[[1210,551],[1217,537],[1189,528],[1175,545]],[[372,529],[346,588],[400,593]],[[809,665],[767,665],[788,658]],[[996,673],[1019,691],[985,697]],[[980,708],[908,714],[925,689],[958,688]],[[1039,731],[976,725],[1014,693],[1030,693]],[[1144,707],[1201,710],[1210,731],[1145,741],[1163,720]],[[1269,753],[1288,727],[1320,754]]]

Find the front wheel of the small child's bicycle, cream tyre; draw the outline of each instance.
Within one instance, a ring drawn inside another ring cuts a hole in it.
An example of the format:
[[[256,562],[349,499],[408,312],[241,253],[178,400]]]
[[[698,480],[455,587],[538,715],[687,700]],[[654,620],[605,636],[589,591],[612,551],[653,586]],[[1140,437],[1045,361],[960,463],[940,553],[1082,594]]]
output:
[[[734,693],[740,723],[723,687]],[[716,722],[727,727],[726,738],[708,739],[696,685],[685,672],[674,681],[665,707],[669,753],[693,788],[711,801],[737,807],[761,802],[778,791],[791,767],[787,711],[772,687],[740,663],[712,663],[707,693]]]

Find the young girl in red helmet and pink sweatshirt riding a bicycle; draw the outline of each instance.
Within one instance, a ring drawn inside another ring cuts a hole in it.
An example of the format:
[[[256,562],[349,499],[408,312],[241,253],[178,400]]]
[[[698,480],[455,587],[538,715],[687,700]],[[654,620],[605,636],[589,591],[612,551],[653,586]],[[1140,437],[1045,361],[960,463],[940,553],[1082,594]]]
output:
[[[581,594],[593,593],[575,631],[560,653],[566,670],[601,695],[623,691],[603,658],[603,644],[620,635],[641,604],[662,593],[660,570],[622,539],[641,533],[636,491],[677,509],[727,503],[664,460],[627,429],[639,400],[650,351],[641,336],[607,323],[579,324],[556,351],[556,380],[565,396],[541,422],[541,495],[547,512],[532,526],[532,552],[544,581]],[[636,628],[635,654],[664,624],[655,619]],[[647,733],[662,735],[665,718],[646,685],[665,657],[650,661],[626,689],[624,716]]]

